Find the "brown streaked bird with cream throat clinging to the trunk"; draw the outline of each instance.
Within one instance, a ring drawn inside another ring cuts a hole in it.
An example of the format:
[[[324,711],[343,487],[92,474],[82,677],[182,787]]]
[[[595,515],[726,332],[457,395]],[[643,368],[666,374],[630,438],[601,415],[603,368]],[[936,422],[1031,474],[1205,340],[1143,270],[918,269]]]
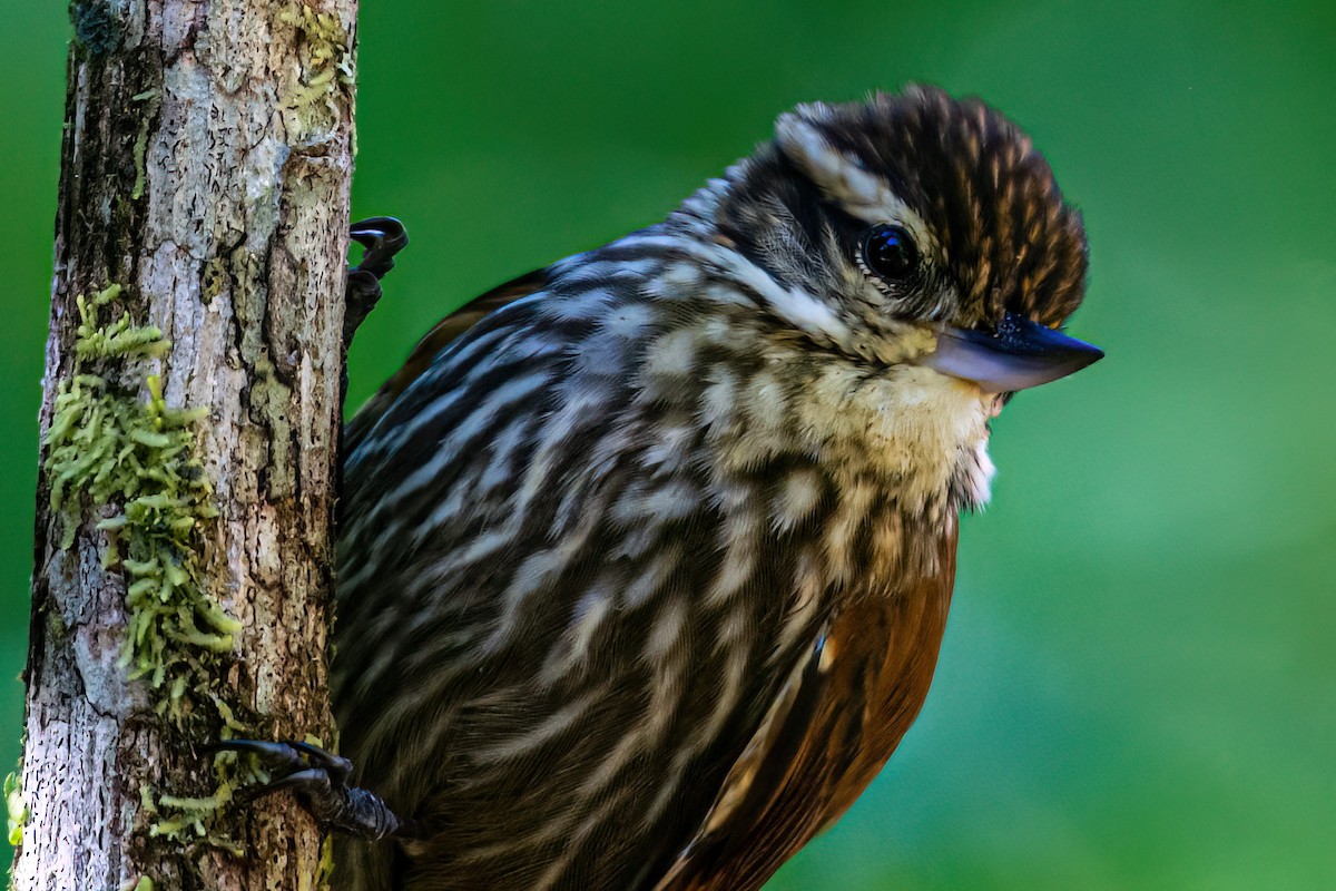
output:
[[[759,888],[918,716],[1086,273],[1025,132],[910,85],[448,315],[345,431],[341,755],[253,747],[374,839],[335,887]]]

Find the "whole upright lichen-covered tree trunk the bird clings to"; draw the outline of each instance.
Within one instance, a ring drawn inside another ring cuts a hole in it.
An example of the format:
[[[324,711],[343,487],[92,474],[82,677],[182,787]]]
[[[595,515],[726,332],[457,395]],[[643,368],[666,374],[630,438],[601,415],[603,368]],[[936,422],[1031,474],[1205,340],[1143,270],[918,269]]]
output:
[[[20,890],[325,883],[204,747],[333,741],[355,9],[71,4]]]

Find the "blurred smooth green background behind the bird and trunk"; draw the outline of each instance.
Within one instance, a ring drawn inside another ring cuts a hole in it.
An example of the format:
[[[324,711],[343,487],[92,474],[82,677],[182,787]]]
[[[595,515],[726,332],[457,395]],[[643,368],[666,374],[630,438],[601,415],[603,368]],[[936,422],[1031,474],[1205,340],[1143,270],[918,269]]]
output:
[[[21,668],[68,24],[3,0],[0,676]],[[771,888],[1336,887],[1336,4],[375,0],[357,215],[413,246],[353,399],[473,294],[660,219],[774,115],[1021,122],[1109,358],[1015,399],[918,725]],[[23,696],[0,683],[0,764]]]

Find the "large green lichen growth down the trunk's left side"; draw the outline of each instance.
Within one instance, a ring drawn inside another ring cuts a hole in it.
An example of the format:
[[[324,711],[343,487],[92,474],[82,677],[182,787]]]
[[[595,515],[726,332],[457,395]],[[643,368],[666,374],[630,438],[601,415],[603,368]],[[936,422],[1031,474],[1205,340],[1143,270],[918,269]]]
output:
[[[202,586],[202,526],[218,514],[208,476],[195,457],[195,427],[207,409],[170,407],[152,374],[143,378],[147,398],[116,383],[135,377],[127,374],[131,363],[170,347],[159,329],[134,325],[128,313],[103,319],[120,294],[120,286],[111,285],[92,299],[76,299],[75,369],[56,391],[44,439],[51,508],[61,549],[73,544],[88,508],[116,510],[96,529],[106,533],[103,566],[119,566],[126,578],[120,665],[131,679],[148,683],[158,713],[172,724],[216,715],[207,732],[227,739],[243,724],[219,696],[218,663],[240,624]],[[103,374],[88,373],[91,363]],[[220,733],[212,729],[218,721]],[[190,835],[239,852],[236,843],[210,831],[218,808],[231,799],[235,755],[215,756],[214,769],[211,796],[155,799],[144,787],[143,811],[160,816],[148,827],[150,836]]]

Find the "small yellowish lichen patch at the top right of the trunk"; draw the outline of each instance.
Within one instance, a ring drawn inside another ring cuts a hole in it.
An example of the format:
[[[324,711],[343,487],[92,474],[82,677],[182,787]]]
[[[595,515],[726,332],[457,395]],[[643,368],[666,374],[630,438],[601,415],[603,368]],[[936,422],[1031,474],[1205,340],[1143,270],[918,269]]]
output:
[[[342,119],[341,102],[351,102],[351,36],[337,15],[302,0],[279,9],[278,20],[294,29],[299,63],[286,84],[285,123],[295,142],[305,142],[329,132]]]

